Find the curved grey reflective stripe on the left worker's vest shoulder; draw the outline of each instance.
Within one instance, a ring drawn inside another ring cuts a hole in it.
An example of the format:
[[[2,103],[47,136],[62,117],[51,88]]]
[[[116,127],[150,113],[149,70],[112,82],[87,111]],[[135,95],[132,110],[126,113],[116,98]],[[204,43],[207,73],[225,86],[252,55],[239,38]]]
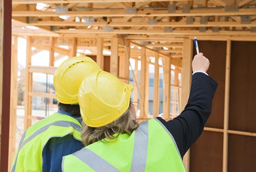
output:
[[[21,138],[21,141],[20,141],[20,144],[19,144],[19,149],[18,149],[18,152],[17,152],[17,155],[15,157],[15,163],[13,165],[13,168],[12,168],[12,172],[15,171],[15,168],[16,168],[16,163],[17,163],[17,158],[18,158],[18,155],[19,155],[19,151],[21,150],[21,148],[26,145],[30,140],[32,140],[33,138],[35,138],[37,135],[47,131],[47,129],[51,126],[59,126],[59,127],[73,127],[76,131],[78,132],[81,132],[82,128],[81,126],[79,126],[78,124],[76,123],[73,123],[71,121],[55,121],[55,122],[52,122],[52,123],[49,123],[47,124],[46,126],[42,127],[42,128],[39,128],[35,133],[31,134],[30,137],[28,137],[25,141],[24,141],[24,138],[25,138],[25,135],[26,135],[26,132],[22,135],[22,138]],[[80,139],[79,139],[80,140]],[[80,140],[81,141],[81,140]]]

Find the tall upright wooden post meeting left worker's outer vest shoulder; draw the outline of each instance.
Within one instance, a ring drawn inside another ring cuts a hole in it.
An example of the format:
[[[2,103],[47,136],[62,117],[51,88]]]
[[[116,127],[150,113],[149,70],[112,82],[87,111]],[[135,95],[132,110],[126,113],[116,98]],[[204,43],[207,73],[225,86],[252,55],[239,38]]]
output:
[[[27,44],[26,44],[24,131],[31,126],[31,115],[32,115],[32,97],[29,96],[29,92],[32,91],[32,73],[29,72],[29,66],[31,66],[31,37],[27,37]]]

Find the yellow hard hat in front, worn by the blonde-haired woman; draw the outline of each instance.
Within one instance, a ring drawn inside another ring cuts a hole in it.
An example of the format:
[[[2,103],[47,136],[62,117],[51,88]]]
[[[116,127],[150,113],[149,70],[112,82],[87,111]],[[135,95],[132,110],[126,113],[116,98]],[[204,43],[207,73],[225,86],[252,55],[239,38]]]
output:
[[[133,86],[101,70],[83,79],[78,102],[84,123],[101,127],[115,121],[129,108]]]

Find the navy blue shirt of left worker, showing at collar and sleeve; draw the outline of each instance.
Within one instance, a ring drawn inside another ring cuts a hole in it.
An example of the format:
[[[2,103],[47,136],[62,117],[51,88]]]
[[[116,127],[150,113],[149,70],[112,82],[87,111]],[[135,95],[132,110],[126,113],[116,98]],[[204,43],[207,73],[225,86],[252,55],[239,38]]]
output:
[[[58,110],[59,114],[69,115],[68,112]],[[82,118],[80,116],[72,116],[76,118],[80,123]],[[83,148],[81,141],[76,140],[73,135],[66,135],[65,137],[54,137],[51,138],[43,149],[43,171],[61,171],[62,157],[70,155]]]

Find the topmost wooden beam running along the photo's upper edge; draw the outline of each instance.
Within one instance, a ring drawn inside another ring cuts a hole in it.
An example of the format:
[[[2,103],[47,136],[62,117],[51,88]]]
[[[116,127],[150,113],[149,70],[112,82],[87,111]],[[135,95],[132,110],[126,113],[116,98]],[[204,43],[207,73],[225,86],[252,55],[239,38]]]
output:
[[[185,0],[143,0],[141,2],[163,2],[163,1],[185,1]],[[120,3],[120,2],[135,2],[135,0],[13,0],[13,4],[62,4],[62,3]],[[140,2],[140,1],[138,1]]]

